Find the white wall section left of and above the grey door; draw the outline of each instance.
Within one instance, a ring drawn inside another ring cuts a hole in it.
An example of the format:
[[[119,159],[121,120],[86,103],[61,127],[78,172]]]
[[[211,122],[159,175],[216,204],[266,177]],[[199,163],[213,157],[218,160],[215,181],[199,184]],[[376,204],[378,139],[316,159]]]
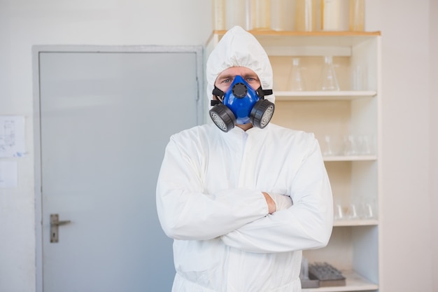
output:
[[[0,188],[0,292],[35,291],[31,46],[203,45],[206,0],[0,0],[0,115],[26,116],[19,186]]]

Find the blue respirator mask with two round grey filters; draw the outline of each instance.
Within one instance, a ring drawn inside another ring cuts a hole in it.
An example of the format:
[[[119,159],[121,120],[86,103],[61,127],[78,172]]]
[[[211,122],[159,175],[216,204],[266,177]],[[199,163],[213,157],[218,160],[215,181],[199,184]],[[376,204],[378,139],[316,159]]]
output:
[[[264,99],[271,95],[272,90],[262,90],[262,87],[253,90],[241,77],[234,77],[227,92],[219,88],[213,89],[213,95],[218,100],[212,100],[210,117],[220,130],[228,132],[236,124],[252,123],[263,129],[267,126],[274,114],[274,104]]]

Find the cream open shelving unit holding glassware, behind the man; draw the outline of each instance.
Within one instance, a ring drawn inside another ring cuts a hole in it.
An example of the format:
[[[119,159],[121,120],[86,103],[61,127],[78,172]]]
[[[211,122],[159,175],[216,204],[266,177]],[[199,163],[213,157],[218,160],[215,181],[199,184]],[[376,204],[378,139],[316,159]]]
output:
[[[276,109],[271,122],[313,132],[323,155],[330,141],[332,151],[324,160],[334,207],[341,206],[345,213],[352,204],[365,203],[372,208],[372,218],[335,220],[325,248],[303,251],[309,263],[327,262],[341,270],[346,286],[303,291],[379,291],[380,32],[250,32],[264,46],[274,71]],[[225,31],[213,32],[206,44],[207,56],[223,34]],[[326,55],[331,55],[336,65],[339,91],[318,88]],[[292,57],[300,58],[304,91],[287,88]],[[351,71],[358,67],[363,74],[362,88],[353,90]],[[346,155],[344,141],[348,137],[367,137],[369,148]]]

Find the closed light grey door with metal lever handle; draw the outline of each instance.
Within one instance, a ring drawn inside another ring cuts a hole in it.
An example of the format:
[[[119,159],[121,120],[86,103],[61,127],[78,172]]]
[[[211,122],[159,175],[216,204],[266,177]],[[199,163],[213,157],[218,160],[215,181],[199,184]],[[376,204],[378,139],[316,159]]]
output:
[[[155,186],[169,136],[201,123],[202,51],[155,50],[36,54],[38,291],[171,290]]]

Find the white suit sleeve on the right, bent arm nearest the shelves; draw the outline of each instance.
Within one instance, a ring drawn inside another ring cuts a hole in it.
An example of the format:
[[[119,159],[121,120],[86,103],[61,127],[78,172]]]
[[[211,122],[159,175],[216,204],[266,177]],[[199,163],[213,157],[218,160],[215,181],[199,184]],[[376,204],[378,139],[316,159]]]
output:
[[[228,246],[255,253],[317,249],[327,245],[332,232],[332,190],[318,141],[292,179],[293,205],[237,228],[222,241]]]

